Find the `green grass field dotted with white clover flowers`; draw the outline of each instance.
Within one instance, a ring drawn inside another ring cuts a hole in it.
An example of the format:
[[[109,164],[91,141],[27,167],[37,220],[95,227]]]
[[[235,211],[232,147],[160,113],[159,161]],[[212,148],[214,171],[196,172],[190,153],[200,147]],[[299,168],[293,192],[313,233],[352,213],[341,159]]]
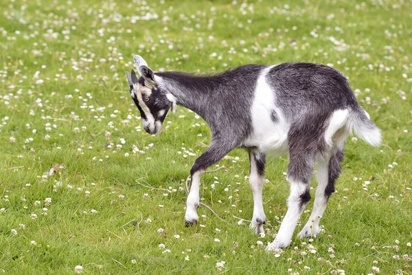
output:
[[[3,0],[0,11],[0,272],[412,274],[410,1]],[[299,224],[290,248],[264,251],[286,213],[288,160],[268,161],[258,237],[240,150],[202,177],[201,202],[221,219],[201,207],[186,228],[185,179],[210,131],[178,107],[161,133],[144,132],[125,76],[135,54],[185,72],[331,65],[382,145],[349,138],[314,239],[298,239]]]

